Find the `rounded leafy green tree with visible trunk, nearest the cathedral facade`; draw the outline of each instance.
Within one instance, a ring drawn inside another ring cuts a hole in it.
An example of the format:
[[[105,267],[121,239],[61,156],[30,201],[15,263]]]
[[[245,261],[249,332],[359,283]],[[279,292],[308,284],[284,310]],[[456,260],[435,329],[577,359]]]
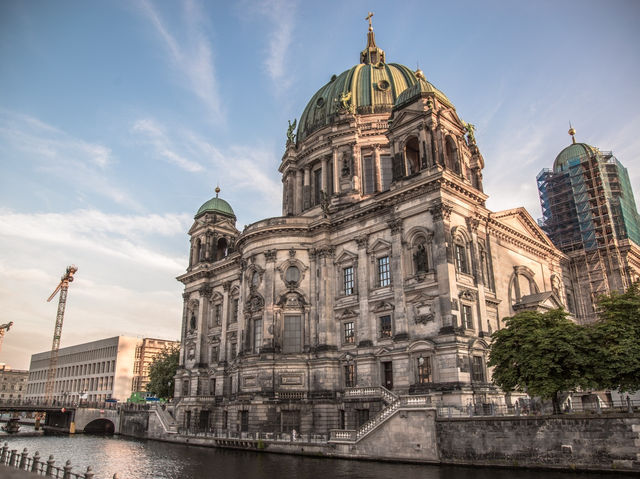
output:
[[[561,309],[540,313],[523,311],[505,320],[493,333],[489,366],[493,381],[504,391],[521,391],[553,401],[560,413],[560,393],[587,387],[585,329]]]

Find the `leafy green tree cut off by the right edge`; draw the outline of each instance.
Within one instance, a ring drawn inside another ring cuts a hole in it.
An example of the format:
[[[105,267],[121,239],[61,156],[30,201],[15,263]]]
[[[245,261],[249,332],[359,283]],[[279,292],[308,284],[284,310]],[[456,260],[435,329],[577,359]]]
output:
[[[588,327],[590,369],[598,389],[640,389],[640,287],[602,296],[599,320]]]

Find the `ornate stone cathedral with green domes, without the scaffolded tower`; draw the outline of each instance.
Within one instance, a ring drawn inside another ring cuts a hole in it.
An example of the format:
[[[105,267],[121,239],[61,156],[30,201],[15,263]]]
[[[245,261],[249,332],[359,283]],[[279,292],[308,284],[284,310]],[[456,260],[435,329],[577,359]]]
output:
[[[297,128],[296,128],[297,127]],[[493,212],[473,125],[424,73],[360,62],[290,125],[282,216],[239,231],[216,196],[189,230],[176,419],[184,427],[355,429],[389,397],[511,401],[490,335],[568,307],[567,256],[524,208]]]

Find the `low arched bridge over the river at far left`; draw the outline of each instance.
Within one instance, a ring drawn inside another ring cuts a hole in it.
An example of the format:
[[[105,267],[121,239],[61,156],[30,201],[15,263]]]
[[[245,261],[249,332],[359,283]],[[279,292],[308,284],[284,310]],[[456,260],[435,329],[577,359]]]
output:
[[[115,403],[0,402],[0,413],[45,413],[45,431],[61,433],[120,432],[119,406]]]

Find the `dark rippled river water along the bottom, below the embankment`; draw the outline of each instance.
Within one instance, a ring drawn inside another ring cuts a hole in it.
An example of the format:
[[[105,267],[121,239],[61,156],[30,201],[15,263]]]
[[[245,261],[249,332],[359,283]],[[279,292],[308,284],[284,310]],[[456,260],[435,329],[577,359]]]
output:
[[[120,436],[0,436],[10,449],[57,466],[71,460],[73,472],[91,465],[96,479],[620,479],[617,474],[449,467],[291,456],[265,452],[204,448]],[[1,467],[1,466],[0,466]],[[0,469],[2,477],[2,469]]]

